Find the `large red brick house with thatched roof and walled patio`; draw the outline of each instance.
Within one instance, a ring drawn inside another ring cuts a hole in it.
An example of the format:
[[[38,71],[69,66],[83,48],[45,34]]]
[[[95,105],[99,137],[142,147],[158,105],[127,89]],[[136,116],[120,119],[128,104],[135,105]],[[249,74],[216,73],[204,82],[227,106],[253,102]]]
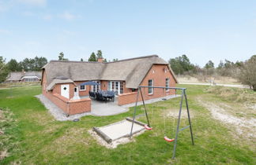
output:
[[[90,98],[106,101],[118,97],[118,105],[127,105],[135,101],[140,85],[173,87],[177,83],[168,62],[157,55],[107,63],[102,59],[50,61],[43,66],[42,75],[43,95],[69,115],[89,112]],[[111,96],[103,95],[107,92]],[[149,88],[142,93],[148,100],[175,94],[175,90]]]

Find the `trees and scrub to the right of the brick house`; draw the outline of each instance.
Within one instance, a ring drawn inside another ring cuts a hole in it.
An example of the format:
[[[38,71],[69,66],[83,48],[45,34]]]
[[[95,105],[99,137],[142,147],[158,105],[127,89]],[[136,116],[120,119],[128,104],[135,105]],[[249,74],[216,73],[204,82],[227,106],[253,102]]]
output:
[[[238,79],[240,83],[248,85],[250,89],[256,91],[256,55],[247,61],[236,61],[235,63],[228,60],[220,61],[216,67],[213,61],[208,61],[202,68],[197,64],[191,64],[185,54],[171,58],[168,62],[175,75],[194,75],[205,81],[209,76],[228,76]]]

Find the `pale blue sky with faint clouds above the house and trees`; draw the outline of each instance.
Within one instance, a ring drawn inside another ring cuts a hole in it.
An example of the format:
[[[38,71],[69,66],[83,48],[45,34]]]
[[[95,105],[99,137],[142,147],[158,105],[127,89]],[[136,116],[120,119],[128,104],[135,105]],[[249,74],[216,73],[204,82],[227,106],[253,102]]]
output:
[[[252,0],[0,0],[0,56],[107,60],[186,54],[191,63],[256,54]]]

